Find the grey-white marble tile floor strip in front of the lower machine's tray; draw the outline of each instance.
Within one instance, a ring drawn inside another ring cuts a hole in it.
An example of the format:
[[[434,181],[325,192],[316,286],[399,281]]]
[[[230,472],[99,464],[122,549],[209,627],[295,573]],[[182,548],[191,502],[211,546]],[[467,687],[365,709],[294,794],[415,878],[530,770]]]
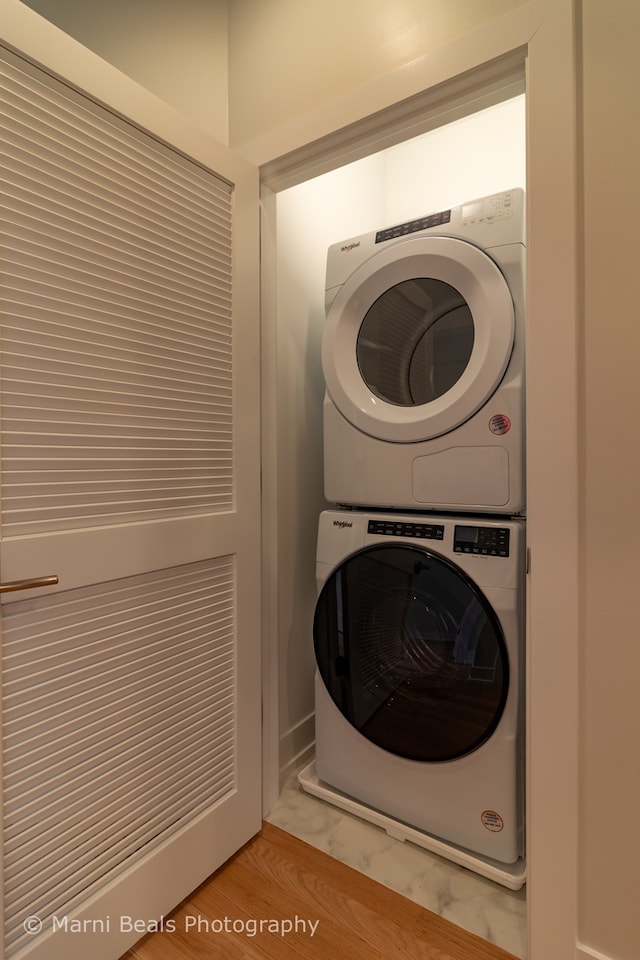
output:
[[[305,793],[297,770],[266,819],[516,957],[526,956],[526,885],[508,890],[393,839],[380,827]]]

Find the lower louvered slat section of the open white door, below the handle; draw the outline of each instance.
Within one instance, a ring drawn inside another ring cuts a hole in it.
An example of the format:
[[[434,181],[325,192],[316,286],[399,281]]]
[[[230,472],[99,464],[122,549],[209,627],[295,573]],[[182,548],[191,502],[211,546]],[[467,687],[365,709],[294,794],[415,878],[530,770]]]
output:
[[[12,950],[25,916],[69,912],[233,789],[234,595],[229,557],[5,610]]]

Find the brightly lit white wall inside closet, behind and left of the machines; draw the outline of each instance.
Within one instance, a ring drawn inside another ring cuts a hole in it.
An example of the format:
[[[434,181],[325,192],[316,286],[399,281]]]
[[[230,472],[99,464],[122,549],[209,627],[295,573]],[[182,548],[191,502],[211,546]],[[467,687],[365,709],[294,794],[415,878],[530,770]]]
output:
[[[323,508],[320,345],[327,247],[359,233],[524,187],[524,97],[276,197],[278,637],[283,774],[313,738],[312,623]]]

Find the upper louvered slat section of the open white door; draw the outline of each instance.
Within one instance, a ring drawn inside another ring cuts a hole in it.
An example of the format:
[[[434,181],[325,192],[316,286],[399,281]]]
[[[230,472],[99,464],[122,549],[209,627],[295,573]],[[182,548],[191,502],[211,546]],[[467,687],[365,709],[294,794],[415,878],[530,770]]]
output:
[[[4,56],[4,535],[229,509],[231,189]]]

